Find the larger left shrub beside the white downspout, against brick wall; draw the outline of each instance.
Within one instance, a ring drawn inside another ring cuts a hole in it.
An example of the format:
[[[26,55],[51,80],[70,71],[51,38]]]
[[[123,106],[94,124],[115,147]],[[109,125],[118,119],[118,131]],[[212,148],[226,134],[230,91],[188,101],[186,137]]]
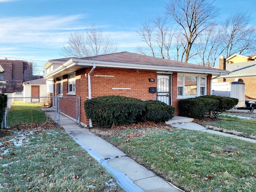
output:
[[[98,124],[131,124],[142,115],[142,100],[124,96],[102,96],[84,102],[87,118]]]

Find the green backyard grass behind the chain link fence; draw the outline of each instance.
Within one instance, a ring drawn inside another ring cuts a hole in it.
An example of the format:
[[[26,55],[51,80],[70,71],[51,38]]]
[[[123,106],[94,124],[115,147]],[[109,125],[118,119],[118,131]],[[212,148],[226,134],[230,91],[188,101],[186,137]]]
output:
[[[50,120],[44,112],[40,111],[41,108],[41,103],[14,101],[8,112],[7,125],[14,126],[22,123],[29,124],[31,122],[46,122]]]

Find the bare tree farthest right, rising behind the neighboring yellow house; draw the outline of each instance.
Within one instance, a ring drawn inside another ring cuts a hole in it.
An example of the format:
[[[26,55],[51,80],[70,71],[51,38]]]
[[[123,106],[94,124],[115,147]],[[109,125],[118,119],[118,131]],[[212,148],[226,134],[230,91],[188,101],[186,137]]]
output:
[[[249,25],[250,15],[236,13],[220,25],[212,26],[202,32],[198,44],[200,64],[215,66],[216,60],[224,54],[247,54],[256,49],[256,27]]]

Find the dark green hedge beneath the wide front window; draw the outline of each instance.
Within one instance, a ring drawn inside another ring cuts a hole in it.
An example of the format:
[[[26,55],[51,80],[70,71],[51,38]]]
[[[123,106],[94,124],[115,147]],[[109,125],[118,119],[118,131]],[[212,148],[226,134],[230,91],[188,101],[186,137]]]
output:
[[[206,95],[178,101],[179,115],[195,119],[202,119],[206,114],[213,115],[229,110],[238,104],[238,99]]]

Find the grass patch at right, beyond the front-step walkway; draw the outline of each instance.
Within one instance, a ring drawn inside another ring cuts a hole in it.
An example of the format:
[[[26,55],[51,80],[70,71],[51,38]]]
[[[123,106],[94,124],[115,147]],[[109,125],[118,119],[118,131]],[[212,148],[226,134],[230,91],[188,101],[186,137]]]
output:
[[[256,119],[241,119],[238,117],[219,116],[220,119],[217,121],[200,123],[202,126],[208,128],[213,126],[220,128],[224,132],[234,133],[247,138],[256,139]],[[214,128],[211,128],[214,129]],[[218,130],[218,129],[216,129]]]

